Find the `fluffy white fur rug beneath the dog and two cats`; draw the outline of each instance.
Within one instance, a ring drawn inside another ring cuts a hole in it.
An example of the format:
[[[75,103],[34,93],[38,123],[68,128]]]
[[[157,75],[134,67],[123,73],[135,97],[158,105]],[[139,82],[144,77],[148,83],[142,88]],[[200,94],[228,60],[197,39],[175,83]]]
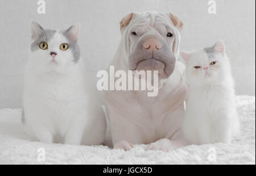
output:
[[[22,110],[0,110],[0,164],[255,164],[255,97],[238,96],[242,135],[232,144],[190,145],[171,152],[29,141],[20,124]],[[45,162],[38,161],[44,148]]]

